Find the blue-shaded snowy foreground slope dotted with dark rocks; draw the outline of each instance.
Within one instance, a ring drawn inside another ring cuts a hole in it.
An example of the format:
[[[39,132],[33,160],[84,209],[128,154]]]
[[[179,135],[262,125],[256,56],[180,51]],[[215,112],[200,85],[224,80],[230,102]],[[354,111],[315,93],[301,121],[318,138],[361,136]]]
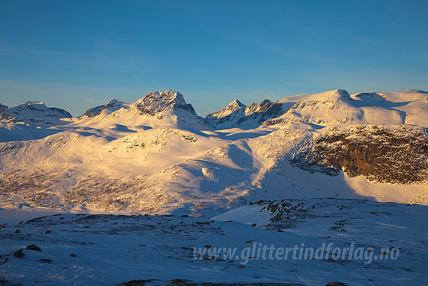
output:
[[[209,219],[57,214],[0,228],[0,279],[423,285],[427,230],[427,206],[351,199],[259,201]]]

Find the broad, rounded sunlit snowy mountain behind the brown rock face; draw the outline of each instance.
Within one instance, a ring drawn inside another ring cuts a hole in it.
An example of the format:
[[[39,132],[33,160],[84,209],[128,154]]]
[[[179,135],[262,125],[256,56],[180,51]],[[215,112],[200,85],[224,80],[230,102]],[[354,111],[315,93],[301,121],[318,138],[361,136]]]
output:
[[[279,118],[264,124],[304,122],[329,124],[410,124],[428,127],[428,94],[409,89],[403,92],[365,92],[349,95],[346,90],[284,97],[289,106]]]

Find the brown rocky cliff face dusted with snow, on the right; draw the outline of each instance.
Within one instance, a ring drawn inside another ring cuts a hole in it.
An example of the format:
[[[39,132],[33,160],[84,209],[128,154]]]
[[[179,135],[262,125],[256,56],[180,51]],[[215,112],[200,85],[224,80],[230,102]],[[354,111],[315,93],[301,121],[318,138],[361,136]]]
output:
[[[398,126],[334,127],[321,132],[292,164],[335,176],[408,184],[428,180],[428,136],[423,128]],[[306,161],[306,164],[304,163]]]

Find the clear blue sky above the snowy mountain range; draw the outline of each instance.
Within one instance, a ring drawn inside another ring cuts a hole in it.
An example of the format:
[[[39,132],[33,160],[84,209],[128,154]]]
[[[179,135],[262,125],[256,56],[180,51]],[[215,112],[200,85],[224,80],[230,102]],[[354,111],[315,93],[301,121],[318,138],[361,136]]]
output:
[[[428,90],[428,1],[0,0],[0,102],[82,115],[173,89],[196,112]]]

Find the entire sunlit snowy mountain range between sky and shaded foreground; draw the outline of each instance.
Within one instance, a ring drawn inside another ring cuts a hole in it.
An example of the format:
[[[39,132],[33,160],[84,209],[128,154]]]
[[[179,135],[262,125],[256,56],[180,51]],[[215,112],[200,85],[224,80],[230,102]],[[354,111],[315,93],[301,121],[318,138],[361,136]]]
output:
[[[428,204],[427,111],[424,91],[337,89],[201,118],[167,90],[52,127],[2,120],[0,206],[204,216],[260,199]]]

